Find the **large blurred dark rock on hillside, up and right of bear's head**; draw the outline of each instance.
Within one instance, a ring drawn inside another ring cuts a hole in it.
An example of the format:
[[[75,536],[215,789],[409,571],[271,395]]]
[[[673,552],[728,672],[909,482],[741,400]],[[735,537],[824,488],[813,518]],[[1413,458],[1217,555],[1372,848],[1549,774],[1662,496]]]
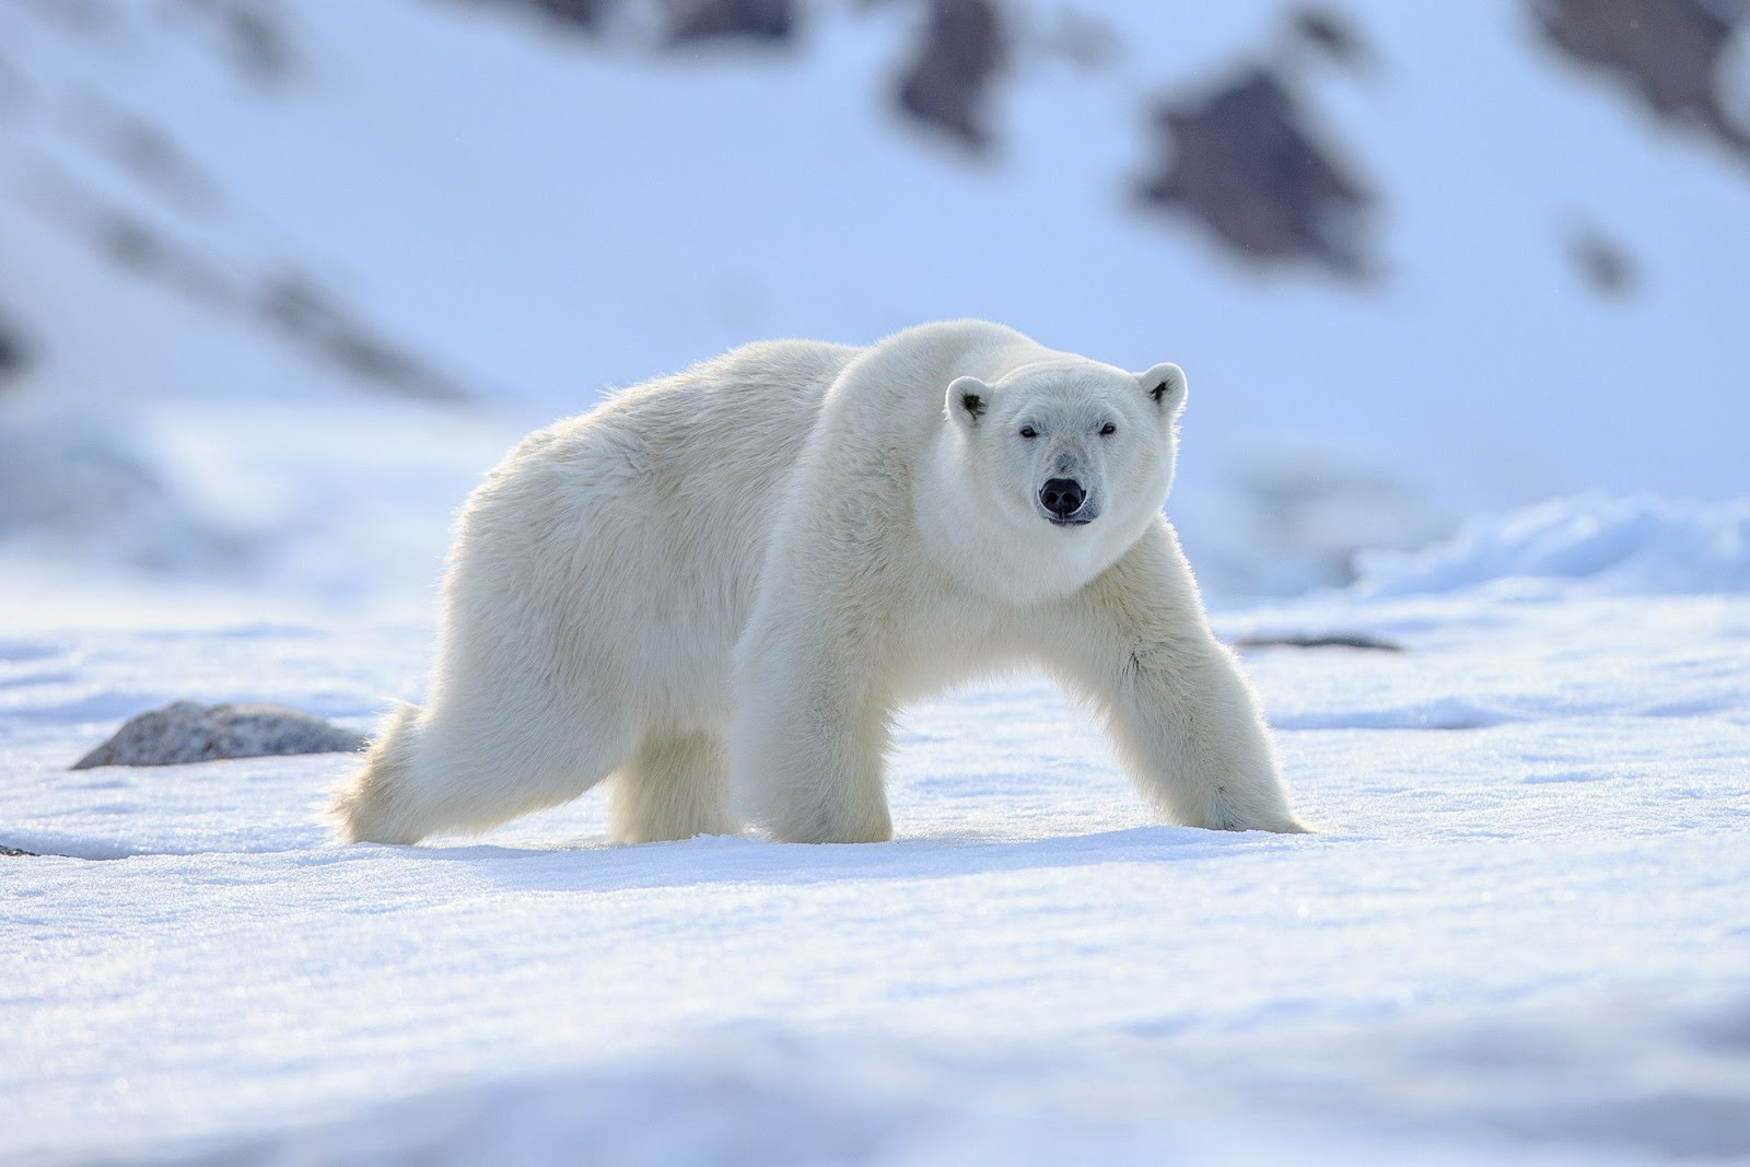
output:
[[[1312,135],[1281,75],[1248,66],[1213,93],[1157,103],[1153,122],[1162,163],[1138,185],[1146,206],[1192,215],[1255,261],[1368,273],[1374,199]]]

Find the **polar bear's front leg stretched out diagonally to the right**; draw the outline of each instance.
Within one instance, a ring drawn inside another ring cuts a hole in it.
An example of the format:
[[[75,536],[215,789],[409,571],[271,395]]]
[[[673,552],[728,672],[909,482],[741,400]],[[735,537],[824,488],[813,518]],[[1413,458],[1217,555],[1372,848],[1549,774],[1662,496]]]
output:
[[[1166,520],[1048,614],[1048,667],[1106,714],[1138,789],[1185,826],[1306,831],[1234,654],[1214,639]]]

